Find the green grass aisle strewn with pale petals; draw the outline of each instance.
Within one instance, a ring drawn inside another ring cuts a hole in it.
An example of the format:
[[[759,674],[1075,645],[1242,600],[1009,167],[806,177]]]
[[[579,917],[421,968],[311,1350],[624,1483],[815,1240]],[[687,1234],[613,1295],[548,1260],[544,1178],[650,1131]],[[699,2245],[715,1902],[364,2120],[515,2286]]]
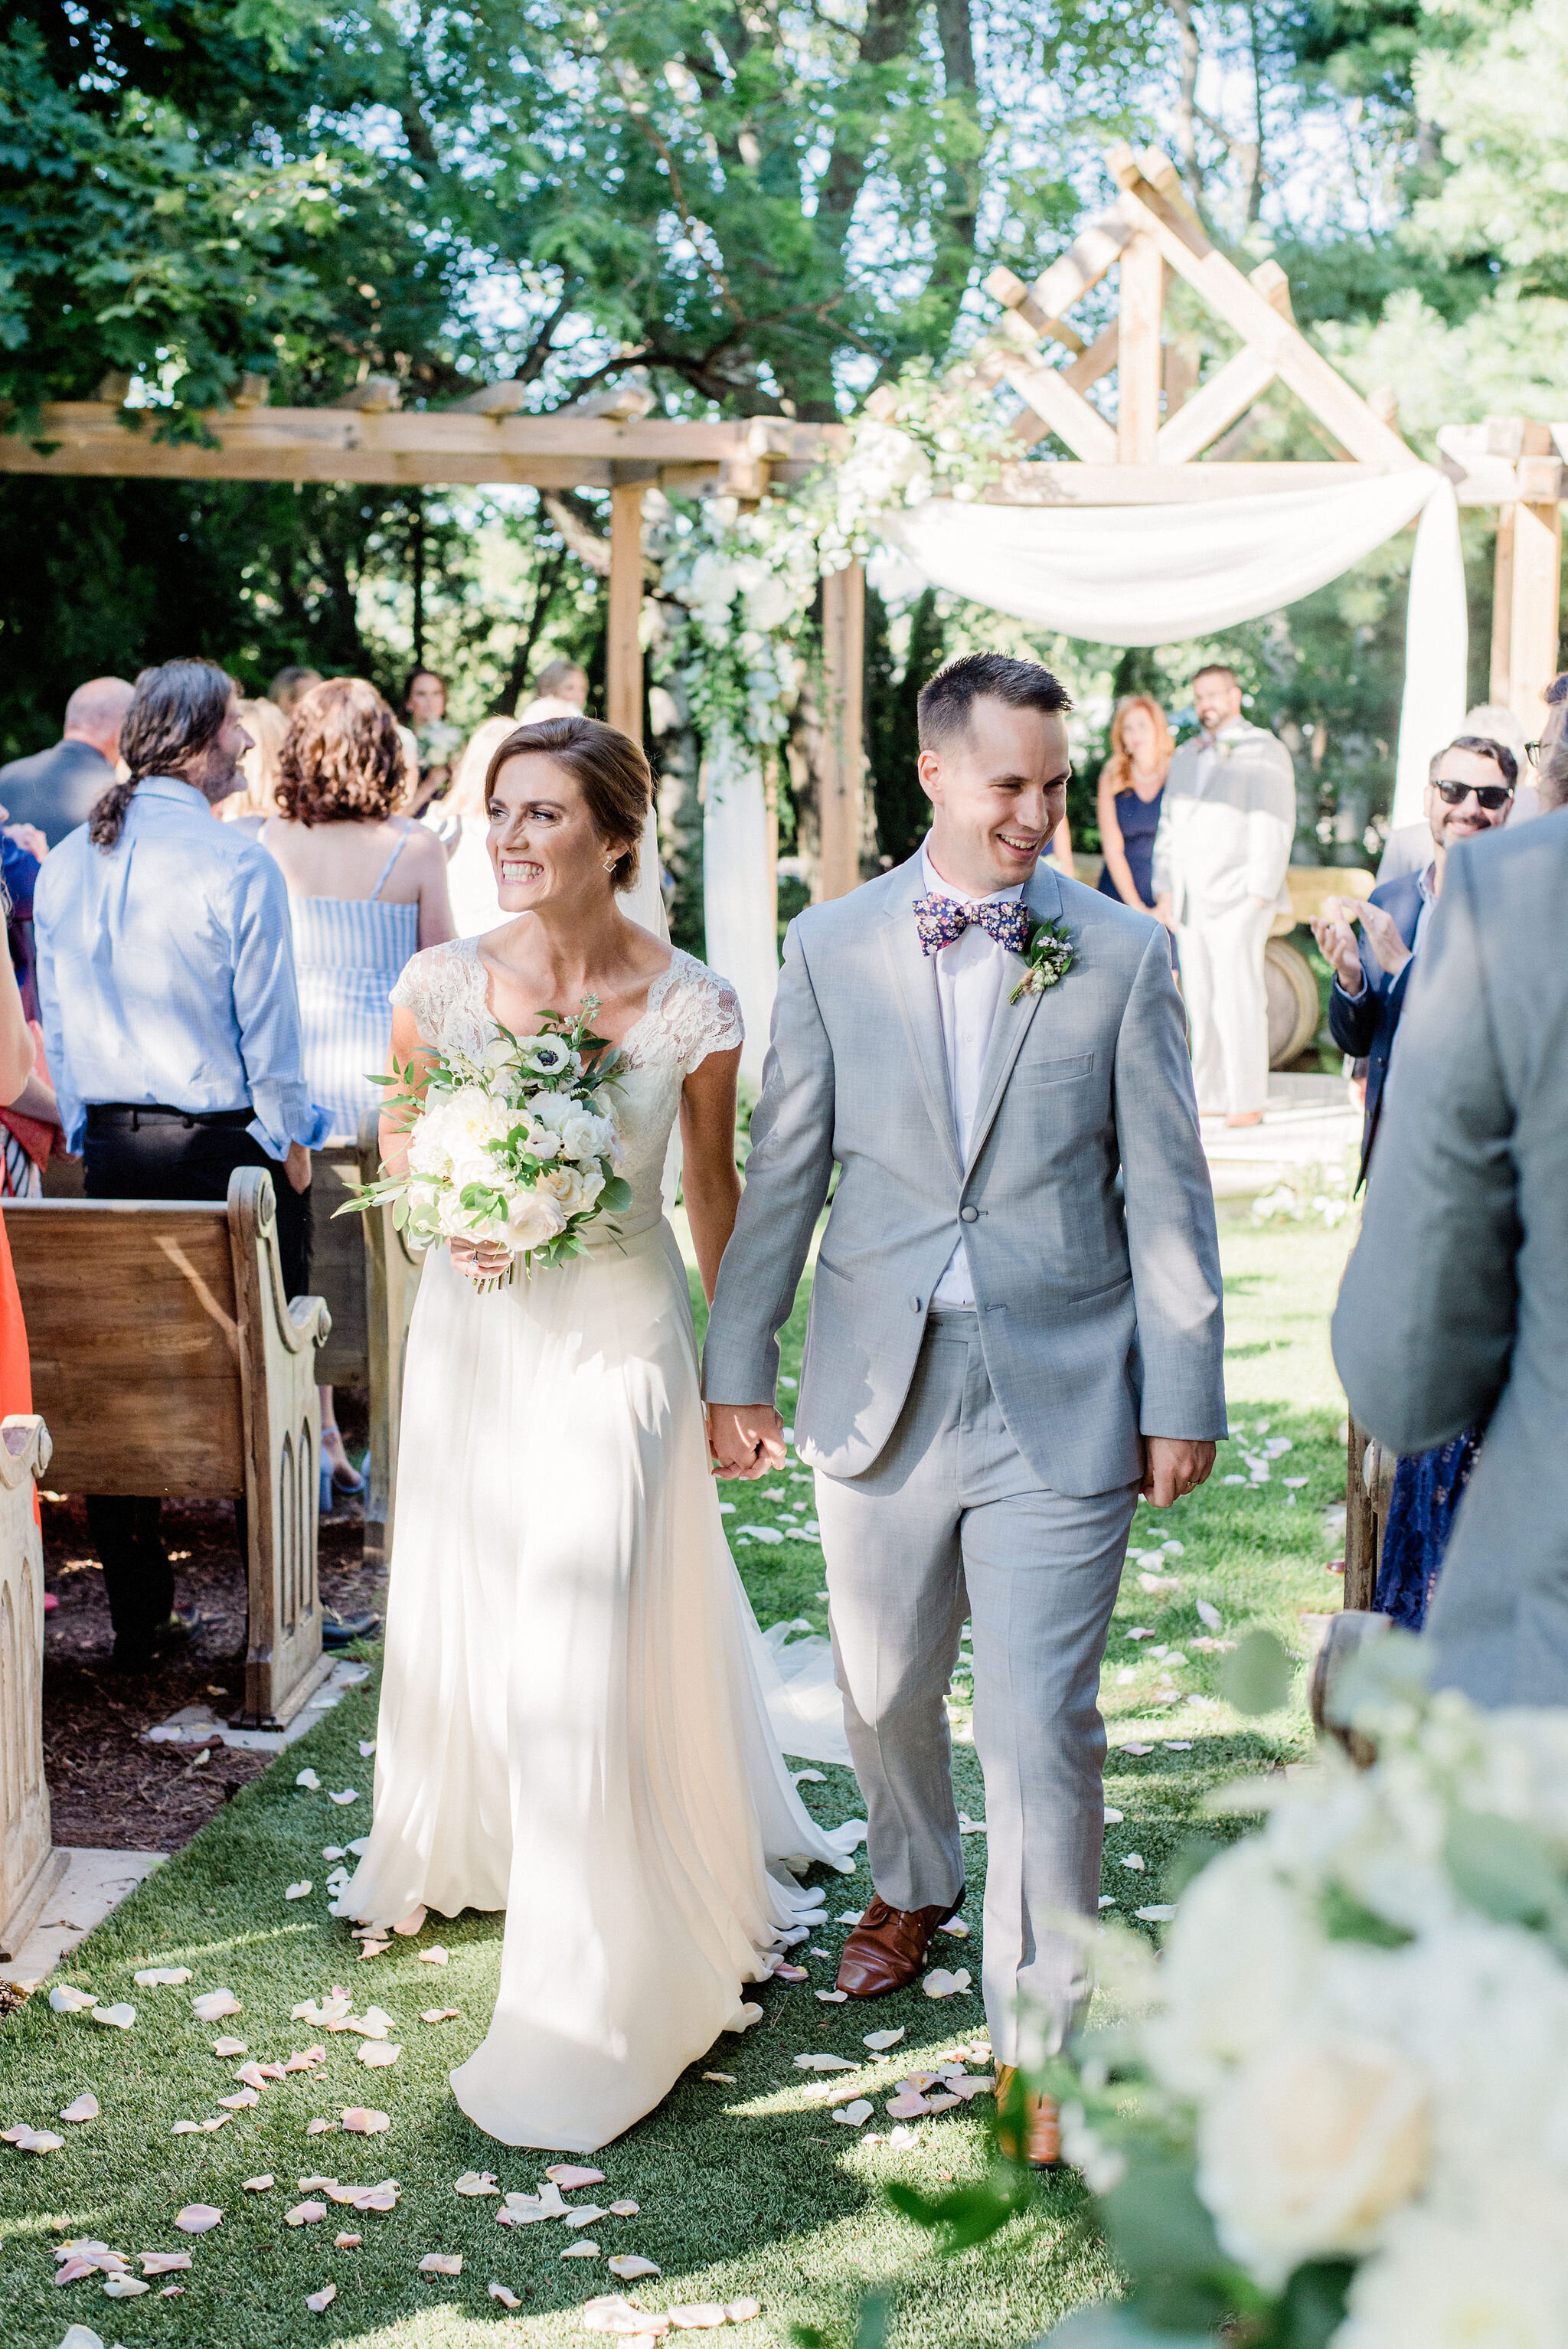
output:
[[[1307,1745],[1300,1705],[1261,1727],[1216,1696],[1223,1658],[1195,1647],[1214,1637],[1197,1602],[1218,1611],[1218,1637],[1268,1623],[1296,1651],[1305,1651],[1303,1614],[1338,1604],[1338,1583],[1324,1571],[1338,1548],[1324,1513],[1343,1499],[1336,1442],[1343,1402],[1326,1351],[1326,1311],[1345,1245],[1343,1229],[1253,1229],[1235,1210],[1223,1231],[1232,1423],[1246,1428],[1253,1456],[1279,1438],[1291,1449],[1270,1461],[1268,1482],[1225,1485],[1225,1475],[1249,1475],[1239,1456],[1225,1456],[1239,1454],[1232,1442],[1199,1494],[1164,1517],[1138,1510],[1134,1553],[1148,1557],[1164,1541],[1183,1548],[1164,1550],[1157,1567],[1129,1557],[1106,1658],[1113,1743],[1106,1792],[1124,1813],[1106,1839],[1106,1891],[1129,1921],[1136,1907],[1162,1898],[1207,1788],[1242,1769],[1270,1769]],[[798,1377],[803,1325],[800,1306],[784,1344],[789,1377]],[[791,1473],[800,1473],[793,1461],[779,1480],[728,1487],[730,1534],[746,1525],[789,1527],[791,1501],[803,1501],[810,1517],[810,1485],[791,1482]],[[763,1623],[805,1616],[824,1628],[822,1553],[810,1539],[791,1532],[782,1543],[744,1541],[737,1557]],[[1145,1590],[1141,1574],[1178,1588]],[[1153,1637],[1131,1640],[1134,1628]],[[1150,1656],[1155,1647],[1167,1656]],[[1167,1694],[1176,1701],[1164,1703]],[[972,1818],[984,1818],[962,1684],[953,1710],[958,1799]],[[951,2262],[934,2262],[927,2239],[887,2210],[885,2180],[934,2189],[984,2170],[988,2107],[920,2121],[901,2149],[869,2145],[864,2133],[831,2121],[829,2102],[805,2095],[812,2074],[798,2072],[793,2058],[805,2051],[864,2058],[861,2072],[833,2074],[833,2086],[880,2098],[906,2069],[984,2034],[984,2013],[976,1997],[932,2004],[920,1992],[876,2008],[822,2006],[812,1992],[831,1985],[833,1957],[807,1957],[812,1980],[800,1987],[770,1985],[761,1994],[763,2022],[744,2039],[718,2041],[657,2114],[601,2156],[608,2185],[592,2189],[594,2196],[638,2203],[636,2217],[606,2217],[587,2229],[603,2257],[563,2262],[570,2236],[561,2225],[498,2227],[498,2203],[458,2196],[455,2178],[495,2170],[505,2192],[535,2189],[549,2156],[509,2152],[479,2135],[453,2105],[446,2069],[484,2034],[500,1921],[432,1919],[418,1943],[394,1943],[359,1966],[345,1926],[326,1917],[322,1849],[369,1828],[373,1764],[359,1755],[359,1741],[373,1734],[373,1689],[350,1694],[82,1945],[63,1980],[94,1990],[103,2004],[131,1999],[129,2032],[56,2015],[42,1992],[0,2025],[0,2126],[56,2128],[66,2138],[47,2156],[0,2147],[5,2349],[56,2349],[73,2321],[127,2349],[160,2342],[469,2349],[584,2340],[577,2309],[617,2288],[603,2264],[613,2253],[657,2260],[662,2276],[629,2288],[648,2307],[758,2297],[763,2316],[746,2328],[753,2349],[786,2349],[791,2323],[817,2323],[847,2340],[859,2297],[885,2279],[899,2286],[890,2333],[897,2349],[1000,2349],[1115,2290],[1073,2178],[1049,2182],[1035,2210]],[[1171,1738],[1188,1750],[1171,1750]],[[1153,1750],[1136,1757],[1131,1743]],[[296,1788],[305,1764],[319,1773],[319,1792]],[[357,1788],[359,1799],[333,1806],[333,1788]],[[831,1823],[857,1809],[847,1771],[831,1771],[829,1783],[803,1792]],[[1134,1851],[1143,1870],[1122,1867]],[[969,1917],[979,1919],[984,1835],[967,1839],[967,1856]],[[284,1889],[305,1877],[312,1893],[284,1900]],[[859,1910],[866,1893],[861,1856],[857,1877],[831,1882],[829,1917]],[[437,1940],[451,1952],[444,1968],[420,1959]],[[829,1926],[812,1940],[836,1952],[843,1929]],[[944,1943],[939,1954],[979,1976],[979,1931],[967,1943]],[[192,1980],[181,1990],[136,1990],[131,1973],[141,1966],[190,1966]],[[366,2069],[357,2037],[291,2020],[291,2006],[336,1983],[354,1992],[359,2011],[378,2004],[392,2015],[401,2055],[390,2069]],[[202,2025],[190,1999],[216,1987],[232,1990],[242,2011]],[[420,2008],[441,2006],[455,2006],[458,2018],[420,2020]],[[906,2027],[904,2044],[887,2058],[866,2058],[861,2032],[887,2025]],[[218,2133],[171,2135],[176,2121],[211,2119],[216,2098],[235,2093],[242,2058],[211,2053],[223,2032],[244,2039],[263,2065],[312,2044],[326,2048],[326,2065],[270,2084],[258,2107]],[[735,2081],[704,2081],[704,2069],[730,2072]],[[101,2116],[85,2126],[56,2121],[85,2088],[96,2093]],[[336,2121],[354,2105],[387,2112],[390,2131],[305,2133],[312,2116]],[[880,2105],[866,2128],[890,2128]],[[272,2192],[242,2192],[261,2173],[277,2178]],[[385,2217],[331,2206],[319,2225],[291,2229],[284,2213],[305,2199],[300,2180],[312,2175],[345,2185],[394,2178],[401,2199]],[[174,2213],[190,2201],[218,2206],[223,2225],[204,2236],[176,2234]],[[336,2250],[340,2227],[361,2234],[361,2248]],[[56,2288],[52,2253],[66,2236],[96,2236],[124,2255],[188,2248],[192,2267],[157,2279],[136,2300],[108,2300],[96,2276]],[[462,2274],[420,2276],[418,2262],[432,2250],[460,2253]],[[488,2297],[491,2279],[519,2295],[519,2314]],[[181,2283],[183,2293],[160,2297],[162,2281]],[[329,2281],[336,2302],[310,2314],[305,2295]]]

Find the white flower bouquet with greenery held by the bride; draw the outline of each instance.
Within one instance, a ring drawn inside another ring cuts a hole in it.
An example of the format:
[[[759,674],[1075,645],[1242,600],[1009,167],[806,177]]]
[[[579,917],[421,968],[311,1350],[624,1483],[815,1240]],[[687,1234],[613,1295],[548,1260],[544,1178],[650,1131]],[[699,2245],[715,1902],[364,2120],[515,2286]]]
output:
[[[437,1240],[488,1240],[516,1266],[561,1264],[582,1252],[582,1233],[601,1214],[631,1205],[617,1172],[620,1135],[608,1090],[620,1055],[592,1034],[596,996],[577,1015],[545,1012],[538,1036],[500,1029],[481,1059],[444,1052],[430,1062],[425,1097],[411,1104],[401,1174],[361,1184],[338,1214],[392,1203],[392,1221],[418,1247]],[[411,1092],[413,1064],[378,1085]]]

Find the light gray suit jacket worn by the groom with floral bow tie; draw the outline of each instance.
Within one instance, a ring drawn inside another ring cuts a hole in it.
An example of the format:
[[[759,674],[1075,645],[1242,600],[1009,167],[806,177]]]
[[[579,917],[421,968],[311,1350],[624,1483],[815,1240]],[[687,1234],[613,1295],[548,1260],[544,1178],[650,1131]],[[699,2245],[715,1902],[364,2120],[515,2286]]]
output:
[[[1141,1431],[1225,1433],[1214,1193],[1167,935],[1035,867],[1023,900],[1066,918],[1073,968],[1019,1003],[1002,991],[962,1165],[920,886],[913,855],[789,926],[704,1391],[772,1400],[777,1330],[838,1163],[800,1456],[838,1478],[878,1459],[962,1238],[1019,1449],[1056,1492],[1110,1492],[1138,1475]]]

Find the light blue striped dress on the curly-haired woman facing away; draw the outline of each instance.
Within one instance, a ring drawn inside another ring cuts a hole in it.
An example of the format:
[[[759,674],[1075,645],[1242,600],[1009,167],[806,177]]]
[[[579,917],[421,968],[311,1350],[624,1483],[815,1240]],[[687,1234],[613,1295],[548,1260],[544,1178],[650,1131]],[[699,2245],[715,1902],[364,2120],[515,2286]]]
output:
[[[380,1097],[369,1078],[387,1066],[390,996],[420,942],[418,904],[380,902],[406,839],[404,832],[369,897],[289,897],[305,1085],[331,1118],[329,1142],[354,1142],[364,1111]]]

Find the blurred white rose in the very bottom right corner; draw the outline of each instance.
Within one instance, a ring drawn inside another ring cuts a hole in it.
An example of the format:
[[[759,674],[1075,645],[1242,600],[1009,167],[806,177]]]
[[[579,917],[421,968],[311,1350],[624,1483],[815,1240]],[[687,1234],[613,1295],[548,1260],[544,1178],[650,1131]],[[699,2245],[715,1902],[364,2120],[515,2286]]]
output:
[[[1357,2269],[1333,2349],[1561,2349],[1568,2213],[1406,2210]]]

